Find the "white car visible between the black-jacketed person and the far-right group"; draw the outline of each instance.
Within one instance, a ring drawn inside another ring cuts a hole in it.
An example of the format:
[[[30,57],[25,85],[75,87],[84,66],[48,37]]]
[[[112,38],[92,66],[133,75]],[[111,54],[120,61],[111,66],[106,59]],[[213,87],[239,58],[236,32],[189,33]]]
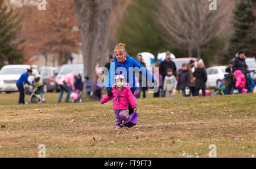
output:
[[[207,88],[218,88],[224,79],[226,68],[228,66],[214,66],[209,67],[207,71]]]

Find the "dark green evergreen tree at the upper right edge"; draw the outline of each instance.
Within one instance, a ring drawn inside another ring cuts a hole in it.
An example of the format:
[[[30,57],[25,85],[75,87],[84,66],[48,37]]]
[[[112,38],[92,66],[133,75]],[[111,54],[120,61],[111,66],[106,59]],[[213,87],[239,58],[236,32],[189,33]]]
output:
[[[256,0],[238,0],[234,13],[234,33],[230,38],[229,57],[245,50],[247,57],[256,56],[255,10]]]

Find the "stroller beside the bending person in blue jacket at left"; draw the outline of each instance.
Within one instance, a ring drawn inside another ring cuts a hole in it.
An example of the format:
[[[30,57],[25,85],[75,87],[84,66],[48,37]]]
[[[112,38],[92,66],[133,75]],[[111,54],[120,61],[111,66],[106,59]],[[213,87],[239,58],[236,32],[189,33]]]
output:
[[[35,83],[35,87],[25,84],[24,92],[30,95],[25,104],[29,103],[46,103],[46,99],[43,96],[43,86],[42,82]]]

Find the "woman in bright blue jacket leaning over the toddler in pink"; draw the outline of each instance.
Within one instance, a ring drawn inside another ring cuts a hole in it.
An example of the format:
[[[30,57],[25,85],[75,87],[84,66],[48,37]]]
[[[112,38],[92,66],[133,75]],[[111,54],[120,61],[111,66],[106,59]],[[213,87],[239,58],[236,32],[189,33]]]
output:
[[[153,83],[155,82],[155,79],[151,75],[151,73],[147,71],[147,69],[143,67],[138,61],[136,61],[134,58],[130,57],[129,54],[126,53],[125,44],[117,44],[114,49],[114,61],[110,66],[109,76],[106,82],[106,89],[108,91],[108,95],[112,96],[111,90],[115,82],[115,74],[124,74],[126,83],[129,83],[131,87],[131,92],[134,94],[135,89],[137,88],[134,70],[139,71],[139,73],[144,75],[144,77],[146,77],[148,81],[151,81]],[[131,105],[129,104],[129,115],[131,115],[133,111],[133,108],[131,108]]]

